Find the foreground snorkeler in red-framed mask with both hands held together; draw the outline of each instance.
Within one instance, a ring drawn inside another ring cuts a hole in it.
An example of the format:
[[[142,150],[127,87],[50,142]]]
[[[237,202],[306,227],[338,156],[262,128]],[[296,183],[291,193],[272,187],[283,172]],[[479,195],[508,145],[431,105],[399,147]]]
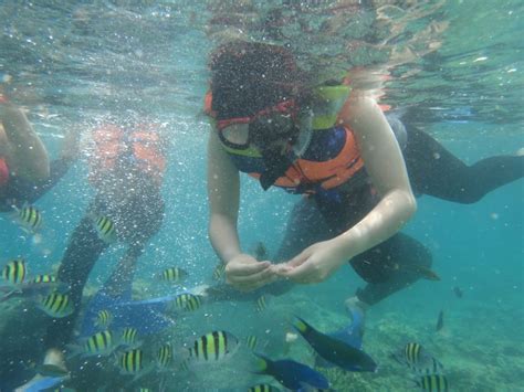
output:
[[[227,282],[241,292],[266,286],[265,293],[283,293],[291,285],[280,279],[319,283],[349,261],[367,285],[346,305],[364,314],[417,282],[420,268],[412,266],[431,266],[428,248],[400,232],[416,212],[416,195],[473,203],[524,176],[522,156],[467,166],[429,135],[388,118],[347,78],[315,83],[284,47],[224,44],[211,59],[211,73],[209,235]],[[284,263],[242,252],[239,172],[264,190],[304,195],[274,258]]]

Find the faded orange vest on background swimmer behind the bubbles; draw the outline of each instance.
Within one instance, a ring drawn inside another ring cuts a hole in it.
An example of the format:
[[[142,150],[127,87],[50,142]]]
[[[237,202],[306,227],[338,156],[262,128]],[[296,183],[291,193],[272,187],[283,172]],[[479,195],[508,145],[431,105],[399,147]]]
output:
[[[161,137],[155,125],[140,124],[133,130],[107,124],[92,131],[94,142],[90,157],[90,180],[103,181],[104,177],[129,159],[134,167],[161,184],[166,171],[166,157]]]

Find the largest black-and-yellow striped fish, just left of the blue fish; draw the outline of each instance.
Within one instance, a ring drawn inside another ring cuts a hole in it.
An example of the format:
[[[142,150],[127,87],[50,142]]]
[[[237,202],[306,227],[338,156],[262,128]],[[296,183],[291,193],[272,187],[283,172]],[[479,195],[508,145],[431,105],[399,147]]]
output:
[[[213,331],[201,336],[191,348],[189,358],[196,362],[216,362],[231,357],[237,351],[239,340],[226,331]]]

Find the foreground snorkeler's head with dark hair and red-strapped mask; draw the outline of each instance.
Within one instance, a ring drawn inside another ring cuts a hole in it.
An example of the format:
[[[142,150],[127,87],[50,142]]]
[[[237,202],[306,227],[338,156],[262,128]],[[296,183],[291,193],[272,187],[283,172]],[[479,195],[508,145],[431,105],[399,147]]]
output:
[[[220,131],[243,127],[264,159],[268,189],[291,165],[306,112],[305,73],[292,53],[265,43],[222,45],[211,59],[211,110]]]

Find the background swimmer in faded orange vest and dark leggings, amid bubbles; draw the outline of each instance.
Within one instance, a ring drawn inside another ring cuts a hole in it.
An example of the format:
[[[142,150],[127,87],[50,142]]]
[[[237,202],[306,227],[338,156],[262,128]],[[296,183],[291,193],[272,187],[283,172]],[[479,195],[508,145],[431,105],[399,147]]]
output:
[[[123,290],[130,290],[136,262],[164,219],[160,188],[166,145],[160,129],[153,124],[105,124],[92,136],[90,182],[96,197],[73,231],[57,274],[71,287],[74,311],[55,320],[44,338],[44,363],[61,367],[65,367],[63,350],[72,338],[83,288],[102,252],[114,241],[128,245],[104,287],[103,299],[130,297]]]

